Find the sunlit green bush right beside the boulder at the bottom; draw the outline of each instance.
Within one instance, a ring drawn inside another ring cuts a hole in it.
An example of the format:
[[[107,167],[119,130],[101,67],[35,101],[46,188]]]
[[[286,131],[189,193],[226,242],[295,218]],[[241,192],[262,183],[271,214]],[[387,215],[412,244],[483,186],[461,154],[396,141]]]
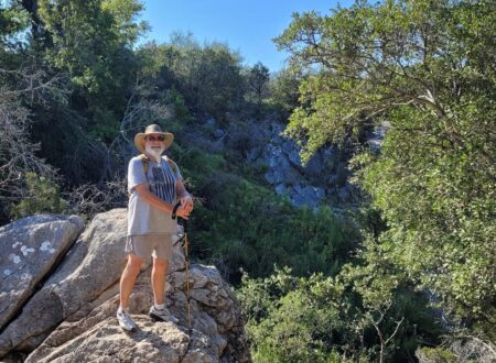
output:
[[[294,277],[289,268],[266,278],[242,277],[237,290],[255,362],[365,361],[337,349],[356,344],[336,297],[339,285],[322,274]],[[344,302],[344,300],[343,300]]]

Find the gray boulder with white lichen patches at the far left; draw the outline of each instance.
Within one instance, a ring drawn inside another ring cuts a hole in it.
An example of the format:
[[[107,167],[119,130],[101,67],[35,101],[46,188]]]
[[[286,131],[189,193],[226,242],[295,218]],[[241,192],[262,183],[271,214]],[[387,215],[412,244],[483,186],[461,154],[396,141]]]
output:
[[[28,217],[0,228],[0,331],[83,228],[76,216]]]

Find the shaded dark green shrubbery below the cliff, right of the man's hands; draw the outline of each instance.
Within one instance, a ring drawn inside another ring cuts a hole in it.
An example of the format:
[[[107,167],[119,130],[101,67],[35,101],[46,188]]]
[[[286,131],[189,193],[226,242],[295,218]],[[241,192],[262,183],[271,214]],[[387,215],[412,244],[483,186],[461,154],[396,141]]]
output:
[[[294,208],[271,190],[218,172],[198,186],[205,205],[193,218],[202,258],[214,261],[231,283],[239,268],[267,276],[273,265],[296,275],[334,275],[349,258],[359,233],[328,208]]]

